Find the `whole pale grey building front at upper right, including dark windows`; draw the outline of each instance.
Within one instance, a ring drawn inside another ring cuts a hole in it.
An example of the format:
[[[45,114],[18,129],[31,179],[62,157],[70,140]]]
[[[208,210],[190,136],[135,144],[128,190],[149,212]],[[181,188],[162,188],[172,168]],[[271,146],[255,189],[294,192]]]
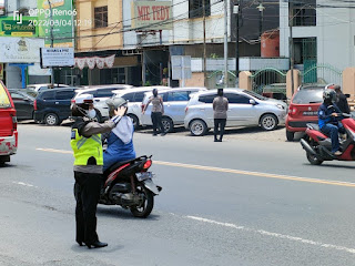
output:
[[[329,65],[338,71],[353,66],[354,7],[354,3],[348,1],[310,0],[288,3],[281,0],[281,57],[290,57],[293,48],[294,64],[301,71],[307,71],[312,65]]]

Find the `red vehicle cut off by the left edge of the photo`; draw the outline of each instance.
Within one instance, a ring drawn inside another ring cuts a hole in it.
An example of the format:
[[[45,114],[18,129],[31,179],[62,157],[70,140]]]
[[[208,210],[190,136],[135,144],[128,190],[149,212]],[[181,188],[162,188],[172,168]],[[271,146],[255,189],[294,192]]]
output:
[[[10,162],[18,150],[18,122],[8,89],[0,81],[0,165]]]

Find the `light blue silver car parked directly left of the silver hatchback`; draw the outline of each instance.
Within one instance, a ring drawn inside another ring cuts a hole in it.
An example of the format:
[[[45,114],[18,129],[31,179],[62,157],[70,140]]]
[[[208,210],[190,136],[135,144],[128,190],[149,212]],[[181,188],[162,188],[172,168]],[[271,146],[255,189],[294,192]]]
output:
[[[159,95],[163,98],[164,114],[162,123],[165,132],[171,132],[175,125],[183,125],[185,117],[185,108],[190,100],[190,95],[196,92],[207,91],[205,88],[191,86],[191,88],[174,88],[171,90],[158,90]],[[142,102],[142,109],[152,96],[152,92],[146,92]],[[141,115],[142,125],[152,125],[151,120],[152,104],[148,106],[145,113]]]

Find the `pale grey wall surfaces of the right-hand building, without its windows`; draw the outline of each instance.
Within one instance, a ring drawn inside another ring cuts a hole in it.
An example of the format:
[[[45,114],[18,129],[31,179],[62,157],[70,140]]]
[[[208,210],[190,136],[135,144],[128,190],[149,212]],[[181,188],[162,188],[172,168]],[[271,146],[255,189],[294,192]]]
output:
[[[331,0],[322,1],[323,6],[346,4]],[[354,35],[352,22],[355,10],[348,8],[318,8],[316,27],[293,27],[293,38],[317,38],[317,63],[331,64],[341,71],[355,64]],[[288,57],[288,3],[280,0],[280,55]]]

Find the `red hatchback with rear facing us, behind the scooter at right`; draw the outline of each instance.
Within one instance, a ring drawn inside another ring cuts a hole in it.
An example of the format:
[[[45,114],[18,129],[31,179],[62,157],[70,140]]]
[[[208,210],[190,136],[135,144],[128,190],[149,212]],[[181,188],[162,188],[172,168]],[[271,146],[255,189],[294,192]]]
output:
[[[293,141],[295,132],[304,132],[307,123],[318,123],[318,108],[327,85],[303,85],[293,94],[286,116],[286,139]]]

